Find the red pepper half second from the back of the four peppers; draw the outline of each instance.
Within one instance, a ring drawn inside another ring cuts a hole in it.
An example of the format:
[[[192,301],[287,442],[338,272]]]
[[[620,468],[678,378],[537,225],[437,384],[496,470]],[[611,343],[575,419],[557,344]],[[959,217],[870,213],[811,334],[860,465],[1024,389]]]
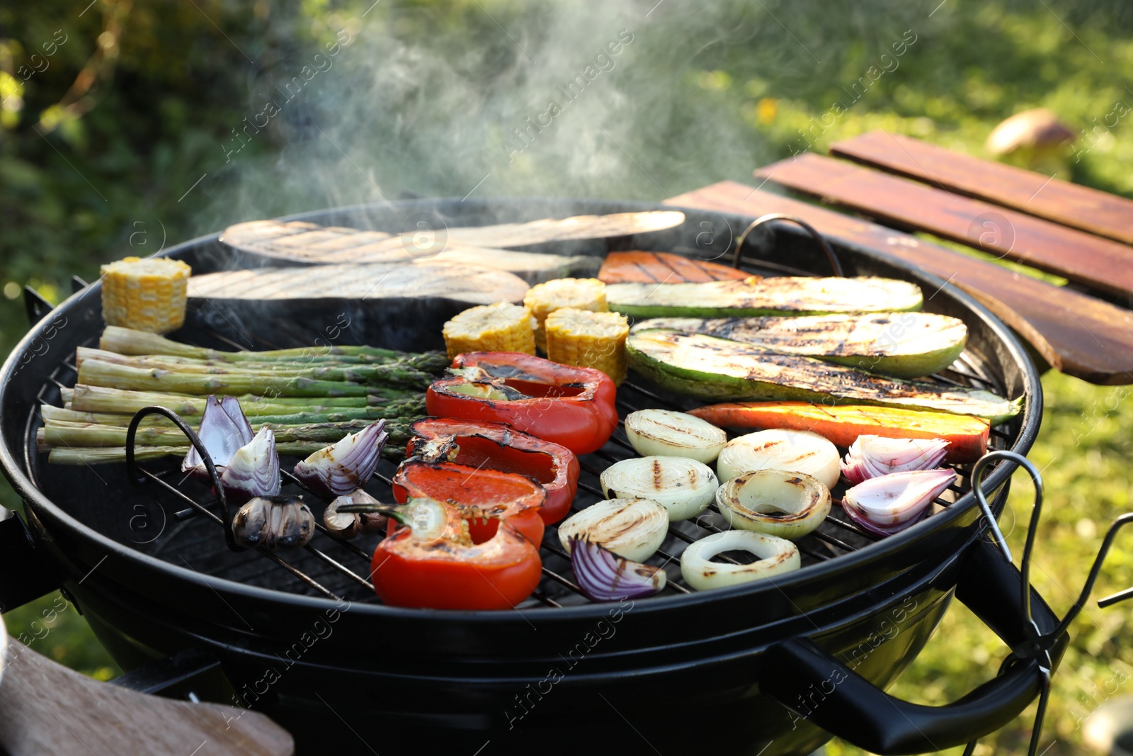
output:
[[[426,417],[409,428],[407,457],[527,475],[547,492],[539,509],[545,524],[553,525],[570,511],[579,473],[578,457],[570,449],[487,421]]]

